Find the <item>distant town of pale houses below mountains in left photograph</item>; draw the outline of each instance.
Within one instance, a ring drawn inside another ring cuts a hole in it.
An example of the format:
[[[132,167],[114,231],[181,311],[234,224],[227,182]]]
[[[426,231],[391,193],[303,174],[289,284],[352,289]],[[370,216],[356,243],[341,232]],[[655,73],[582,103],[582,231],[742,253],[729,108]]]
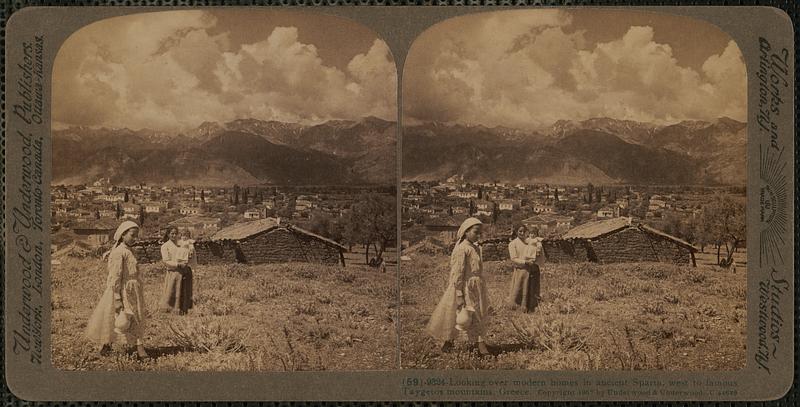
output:
[[[52,241],[56,246],[81,241],[106,245],[123,219],[142,225],[141,235],[154,238],[168,226],[189,231],[195,239],[209,238],[236,223],[277,218],[334,239],[359,196],[394,199],[393,186],[154,186],[113,185],[98,179],[90,185],[53,185]]]

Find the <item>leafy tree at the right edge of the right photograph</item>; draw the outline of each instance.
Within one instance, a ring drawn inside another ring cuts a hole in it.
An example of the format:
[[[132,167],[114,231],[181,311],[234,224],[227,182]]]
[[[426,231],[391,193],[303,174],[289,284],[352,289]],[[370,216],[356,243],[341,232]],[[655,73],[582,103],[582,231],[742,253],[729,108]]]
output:
[[[730,266],[733,263],[733,254],[746,238],[744,202],[729,195],[717,195],[703,208],[702,217],[710,241],[717,250],[717,264],[722,267]],[[725,259],[721,257],[723,246],[727,255]]]

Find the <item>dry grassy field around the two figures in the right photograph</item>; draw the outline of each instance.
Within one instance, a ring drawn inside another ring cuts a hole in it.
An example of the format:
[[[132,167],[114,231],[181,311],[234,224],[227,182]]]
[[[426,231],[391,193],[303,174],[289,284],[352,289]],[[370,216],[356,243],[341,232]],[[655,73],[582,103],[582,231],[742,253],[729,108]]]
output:
[[[706,260],[706,259],[703,259]],[[737,259],[738,260],[738,259]],[[445,256],[401,268],[401,364],[413,369],[735,370],[745,366],[746,270],[701,262],[547,264],[542,302],[505,306],[511,267],[485,263],[491,356],[460,339],[441,353],[425,324],[446,285]]]

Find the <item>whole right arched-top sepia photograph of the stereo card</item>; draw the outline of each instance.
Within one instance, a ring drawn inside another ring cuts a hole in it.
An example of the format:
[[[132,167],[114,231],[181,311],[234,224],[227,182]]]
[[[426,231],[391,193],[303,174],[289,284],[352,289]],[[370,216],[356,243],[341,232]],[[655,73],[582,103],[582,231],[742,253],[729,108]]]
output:
[[[406,369],[746,365],[746,68],[716,26],[455,17],[402,76]]]

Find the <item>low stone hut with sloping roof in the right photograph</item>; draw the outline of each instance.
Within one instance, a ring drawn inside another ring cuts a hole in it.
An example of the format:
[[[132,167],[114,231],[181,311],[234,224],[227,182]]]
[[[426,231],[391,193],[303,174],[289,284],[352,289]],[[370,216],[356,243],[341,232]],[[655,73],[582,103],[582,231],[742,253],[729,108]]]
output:
[[[545,240],[543,247],[547,260],[553,263],[649,261],[696,266],[697,248],[647,225],[634,225],[626,217],[585,223],[561,239]]]

